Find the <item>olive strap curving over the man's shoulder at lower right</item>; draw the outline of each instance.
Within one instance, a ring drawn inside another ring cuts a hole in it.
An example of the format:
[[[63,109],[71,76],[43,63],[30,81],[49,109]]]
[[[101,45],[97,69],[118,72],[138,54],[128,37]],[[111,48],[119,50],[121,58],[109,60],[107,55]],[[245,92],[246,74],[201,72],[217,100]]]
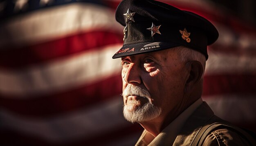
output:
[[[198,133],[196,134],[193,142],[191,143],[191,146],[201,146],[202,142],[209,135],[209,133],[213,129],[215,129],[219,126],[222,126],[222,128],[224,127],[224,128],[233,129],[233,130],[237,131],[238,133],[244,135],[244,138],[247,139],[249,144],[251,144],[252,146],[254,146],[256,144],[255,139],[253,139],[251,135],[249,135],[248,133],[246,133],[242,129],[234,127],[234,126],[229,126],[229,125],[226,125],[226,124],[220,124],[220,123],[216,122],[216,123],[213,123],[213,124],[210,124],[210,125],[202,126],[200,128],[200,130],[198,131]]]

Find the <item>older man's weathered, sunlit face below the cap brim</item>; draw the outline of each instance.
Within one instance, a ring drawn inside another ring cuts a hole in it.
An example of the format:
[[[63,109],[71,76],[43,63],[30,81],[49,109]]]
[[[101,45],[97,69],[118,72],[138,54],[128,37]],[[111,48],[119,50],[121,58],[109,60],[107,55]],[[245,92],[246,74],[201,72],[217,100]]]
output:
[[[121,64],[128,121],[161,119],[178,110],[187,73],[173,49],[123,57]]]

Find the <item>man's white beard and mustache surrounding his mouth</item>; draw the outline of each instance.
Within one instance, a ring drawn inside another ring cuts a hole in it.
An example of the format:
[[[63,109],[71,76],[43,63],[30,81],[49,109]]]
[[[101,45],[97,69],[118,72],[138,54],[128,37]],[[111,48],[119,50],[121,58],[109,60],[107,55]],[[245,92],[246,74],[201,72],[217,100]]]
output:
[[[161,108],[158,108],[156,106],[154,106],[151,102],[150,102],[150,94],[147,90],[142,89],[138,86],[133,86],[131,84],[128,84],[128,86],[125,88],[124,92],[123,92],[123,96],[128,97],[129,95],[136,95],[136,96],[140,96],[140,97],[145,97],[148,99],[148,102],[146,104],[144,104],[143,106],[139,106],[137,108],[133,107],[132,110],[128,109],[127,105],[124,105],[124,118],[129,121],[129,122],[145,122],[145,121],[150,121],[152,119],[157,118],[161,113],[162,110]],[[129,104],[136,104],[136,101],[134,101],[133,103],[129,103]],[[132,106],[132,105],[129,105]],[[134,105],[135,106],[135,105]]]

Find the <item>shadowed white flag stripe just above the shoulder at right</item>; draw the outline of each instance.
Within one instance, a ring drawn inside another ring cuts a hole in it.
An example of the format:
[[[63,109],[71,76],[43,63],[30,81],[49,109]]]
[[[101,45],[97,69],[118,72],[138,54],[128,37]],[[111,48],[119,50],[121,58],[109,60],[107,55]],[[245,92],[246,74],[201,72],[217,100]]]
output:
[[[256,121],[255,95],[215,95],[203,97],[215,115],[230,122]]]

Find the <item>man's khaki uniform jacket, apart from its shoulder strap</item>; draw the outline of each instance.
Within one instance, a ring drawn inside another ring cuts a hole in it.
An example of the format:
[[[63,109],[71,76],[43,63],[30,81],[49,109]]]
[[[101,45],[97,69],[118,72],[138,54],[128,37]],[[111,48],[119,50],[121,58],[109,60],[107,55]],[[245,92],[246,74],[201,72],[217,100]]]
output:
[[[212,124],[215,122],[227,123],[214,115],[211,108],[206,102],[203,102],[187,119],[184,126],[182,127],[180,133],[177,135],[173,146],[191,146],[195,135],[198,133],[200,128],[206,124]],[[136,146],[170,146],[172,144],[171,138],[168,132],[160,133],[155,139],[150,143],[146,144],[143,140],[143,135],[146,131],[142,133],[140,139],[138,140]],[[211,132],[204,140],[203,146],[250,146],[250,144],[235,131],[223,128]]]

